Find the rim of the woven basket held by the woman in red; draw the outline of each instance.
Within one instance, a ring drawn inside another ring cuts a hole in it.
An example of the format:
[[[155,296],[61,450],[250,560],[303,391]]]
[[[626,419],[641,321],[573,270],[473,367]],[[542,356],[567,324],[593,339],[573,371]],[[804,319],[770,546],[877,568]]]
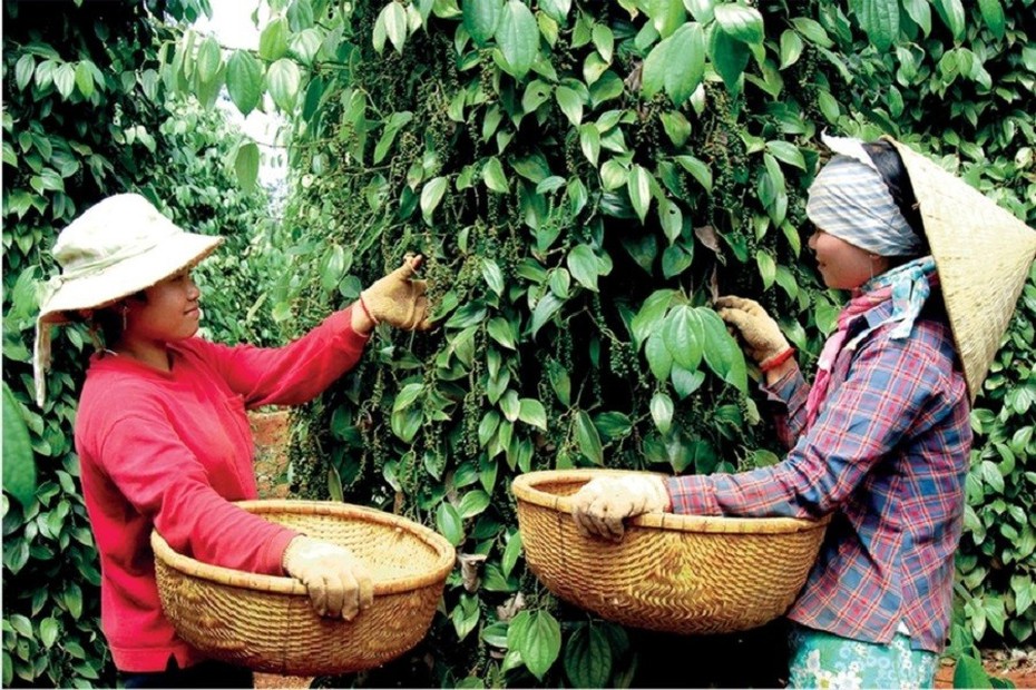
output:
[[[253,501],[235,501],[235,505],[248,511],[250,513],[262,515],[264,513],[295,513],[301,515],[341,515],[346,518],[360,518],[362,522],[374,522],[389,526],[394,526],[409,532],[420,541],[431,546],[438,554],[436,565],[432,570],[421,575],[410,575],[407,578],[393,578],[381,580],[374,583],[374,595],[384,597],[385,594],[399,594],[412,590],[421,589],[438,584],[446,580],[450,571],[453,570],[453,563],[457,559],[457,552],[444,536],[434,532],[422,524],[412,520],[385,513],[365,505],[355,505],[352,503],[338,503],[333,501],[296,501],[292,499],[260,499]],[[203,563],[196,559],[184,555],[173,550],[172,546],[163,539],[158,530],[152,531],[152,550],[155,558],[169,568],[193,578],[207,580],[216,584],[236,586],[274,594],[296,594],[306,597],[307,590],[302,582],[295,578],[266,575],[261,573],[251,573],[222,565]]]

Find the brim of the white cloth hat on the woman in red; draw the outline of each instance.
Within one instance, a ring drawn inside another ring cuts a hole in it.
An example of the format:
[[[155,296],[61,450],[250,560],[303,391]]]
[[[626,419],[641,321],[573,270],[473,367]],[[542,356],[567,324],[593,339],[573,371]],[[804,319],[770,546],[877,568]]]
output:
[[[62,278],[40,308],[42,324],[71,321],[76,312],[105,307],[189,268],[213,253],[222,237],[178,233],[148,252],[88,276]]]

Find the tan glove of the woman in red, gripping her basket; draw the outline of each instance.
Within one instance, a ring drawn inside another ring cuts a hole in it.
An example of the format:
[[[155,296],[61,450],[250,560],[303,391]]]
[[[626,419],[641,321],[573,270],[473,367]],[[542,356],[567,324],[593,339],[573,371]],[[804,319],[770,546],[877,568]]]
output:
[[[351,621],[374,600],[374,582],[352,551],[338,544],[296,536],[284,550],[284,572],[297,578],[316,612]]]

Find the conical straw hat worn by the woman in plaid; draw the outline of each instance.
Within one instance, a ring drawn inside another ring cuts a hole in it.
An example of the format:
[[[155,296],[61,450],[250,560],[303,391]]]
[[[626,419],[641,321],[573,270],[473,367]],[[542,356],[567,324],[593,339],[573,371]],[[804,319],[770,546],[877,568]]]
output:
[[[1036,230],[905,144],[886,139],[910,176],[975,402],[1036,256]]]

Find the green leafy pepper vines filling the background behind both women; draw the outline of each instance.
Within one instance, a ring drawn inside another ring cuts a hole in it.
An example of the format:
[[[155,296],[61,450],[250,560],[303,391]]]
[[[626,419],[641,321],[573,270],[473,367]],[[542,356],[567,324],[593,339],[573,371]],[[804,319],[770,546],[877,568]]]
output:
[[[273,0],[246,51],[192,29],[204,1],[74,2],[63,22],[6,4],[3,377],[40,484],[25,506],[4,494],[4,684],[111,679],[70,446],[89,344],[58,341],[42,414],[27,361],[32,280],[52,272],[40,248],[126,188],[228,236],[203,276],[217,339],[283,342],[403,252],[428,257],[441,327],[379,332],[295,413],[294,489],[429,524],[471,566],[413,653],[323,683],[664,686],[693,648],[753,661],[690,664],[681,686],[774,684],[780,622],[687,640],[543,590],[509,480],[776,462],[756,372],[711,299],[758,298],[812,371],[843,299],[802,247],[824,128],[892,134],[1034,225],[1032,6]],[[290,122],[283,217],[256,189],[257,147],[213,108],[224,86]],[[1036,622],[1034,329],[1030,274],[973,413],[948,650],[970,686],[986,682],[976,643],[1032,644]]]

